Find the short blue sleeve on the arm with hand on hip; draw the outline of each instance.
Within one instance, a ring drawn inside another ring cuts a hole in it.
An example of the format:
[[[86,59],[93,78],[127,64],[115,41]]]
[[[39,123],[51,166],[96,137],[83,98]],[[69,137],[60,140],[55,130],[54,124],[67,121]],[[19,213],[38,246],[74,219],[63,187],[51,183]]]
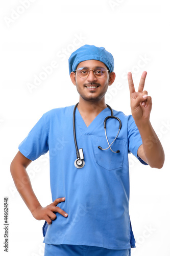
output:
[[[44,115],[35,124],[27,137],[19,144],[18,149],[22,155],[32,161],[48,151],[48,133]]]

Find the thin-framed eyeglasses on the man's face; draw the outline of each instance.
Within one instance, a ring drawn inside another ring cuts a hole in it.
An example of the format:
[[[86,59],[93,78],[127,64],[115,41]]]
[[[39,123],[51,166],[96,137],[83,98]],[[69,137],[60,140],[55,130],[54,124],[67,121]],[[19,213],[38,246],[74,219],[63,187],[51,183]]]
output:
[[[97,78],[103,78],[106,75],[106,71],[109,71],[105,68],[96,68],[96,69],[88,69],[88,68],[79,68],[76,69],[78,75],[80,78],[87,78],[90,74],[90,70],[93,71],[94,76]]]

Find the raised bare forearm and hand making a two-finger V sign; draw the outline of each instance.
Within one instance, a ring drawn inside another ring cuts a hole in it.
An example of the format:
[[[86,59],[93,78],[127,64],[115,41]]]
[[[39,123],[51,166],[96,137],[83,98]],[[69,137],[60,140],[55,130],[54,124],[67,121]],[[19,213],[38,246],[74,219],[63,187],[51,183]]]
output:
[[[163,147],[156,135],[151,122],[152,98],[147,91],[143,91],[147,72],[142,73],[138,91],[135,91],[131,72],[128,73],[131,111],[142,138],[142,145],[138,148],[138,156],[151,167],[162,168],[164,163]]]

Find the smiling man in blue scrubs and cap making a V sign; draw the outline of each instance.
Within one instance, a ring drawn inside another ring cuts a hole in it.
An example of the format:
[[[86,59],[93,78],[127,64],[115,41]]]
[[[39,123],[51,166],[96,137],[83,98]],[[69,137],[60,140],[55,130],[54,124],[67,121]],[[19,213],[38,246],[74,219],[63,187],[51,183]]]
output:
[[[113,67],[113,56],[105,48],[85,45],[72,53],[69,73],[80,94],[78,105],[45,113],[11,163],[21,197],[35,219],[46,221],[44,255],[127,256],[135,247],[129,217],[128,154],[161,168],[164,152],[150,123],[152,100],[143,90],[147,72],[137,92],[128,73],[132,115],[125,116],[111,113],[105,103],[108,86],[115,79]],[[58,138],[66,145],[58,145]],[[48,150],[53,203],[42,207],[26,168]]]

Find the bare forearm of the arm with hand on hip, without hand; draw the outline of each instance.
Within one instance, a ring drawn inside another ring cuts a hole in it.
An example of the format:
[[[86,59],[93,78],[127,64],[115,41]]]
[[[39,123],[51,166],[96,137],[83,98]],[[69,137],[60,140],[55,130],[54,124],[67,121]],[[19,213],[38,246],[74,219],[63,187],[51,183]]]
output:
[[[33,212],[36,208],[41,207],[32,189],[26,168],[19,163],[11,163],[11,175],[20,196],[30,211]]]

